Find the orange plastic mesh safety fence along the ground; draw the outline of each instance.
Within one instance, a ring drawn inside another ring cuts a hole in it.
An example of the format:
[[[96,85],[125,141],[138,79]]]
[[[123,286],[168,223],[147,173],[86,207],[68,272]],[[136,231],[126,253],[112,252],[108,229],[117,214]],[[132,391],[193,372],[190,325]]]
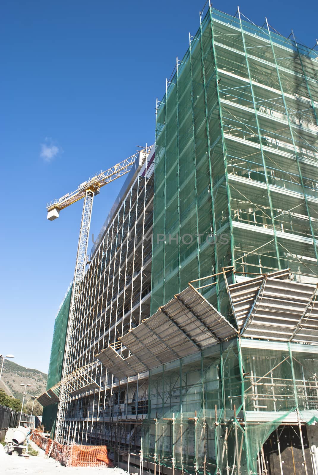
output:
[[[34,431],[33,442],[45,450],[46,454],[50,453],[52,458],[67,467],[113,466],[108,458],[106,446],[66,446],[42,436],[37,430]]]

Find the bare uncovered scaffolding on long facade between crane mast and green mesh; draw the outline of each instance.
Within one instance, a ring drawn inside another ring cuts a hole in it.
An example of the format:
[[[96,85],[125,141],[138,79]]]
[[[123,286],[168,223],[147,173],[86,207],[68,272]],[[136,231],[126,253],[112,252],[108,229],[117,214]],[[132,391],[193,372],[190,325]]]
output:
[[[102,439],[106,437],[105,422],[114,417],[113,410],[110,414],[106,407],[114,400],[117,380],[96,359],[96,353],[110,343],[119,342],[127,330],[149,314],[153,155],[146,157],[144,164],[137,164],[128,175],[79,285],[69,371],[59,384],[49,387],[56,397],[61,386],[65,388],[65,411],[59,435],[64,443],[79,437],[84,443],[90,437],[91,442],[95,430]],[[142,387],[138,378],[131,385],[137,386],[135,398],[138,399]],[[52,408],[49,390],[40,397],[48,410]],[[135,408],[135,401],[131,404]],[[83,414],[87,416],[85,421]],[[97,435],[94,437],[98,439]]]

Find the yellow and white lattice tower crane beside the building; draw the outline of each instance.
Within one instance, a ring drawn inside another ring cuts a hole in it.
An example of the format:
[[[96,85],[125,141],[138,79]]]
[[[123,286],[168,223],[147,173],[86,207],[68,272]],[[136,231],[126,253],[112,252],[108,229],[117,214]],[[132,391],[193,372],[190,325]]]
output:
[[[65,419],[66,409],[67,409],[67,375],[70,370],[70,355],[71,355],[71,340],[74,331],[74,322],[75,322],[75,309],[76,302],[79,296],[79,286],[83,280],[85,274],[85,265],[87,257],[87,246],[88,246],[88,237],[89,237],[89,228],[92,216],[92,207],[93,207],[93,198],[96,194],[99,193],[100,188],[105,186],[107,183],[116,180],[128,173],[135,161],[142,165],[147,156],[149,155],[151,147],[143,148],[141,151],[135,153],[131,157],[117,163],[112,168],[109,168],[106,171],[100,171],[96,173],[95,176],[89,178],[87,181],[81,183],[77,190],[67,193],[62,196],[60,199],[55,199],[47,205],[48,216],[47,218],[50,221],[57,219],[61,209],[67,208],[71,204],[75,203],[79,199],[84,198],[83,211],[81,226],[79,231],[79,239],[77,246],[77,257],[76,265],[73,278],[73,286],[71,293],[71,303],[69,308],[68,315],[68,324],[67,324],[67,336],[65,342],[65,352],[62,368],[62,378],[60,384],[60,393],[58,400],[58,415],[57,415],[57,424],[56,424],[56,435],[55,439],[63,443],[63,422]]]

